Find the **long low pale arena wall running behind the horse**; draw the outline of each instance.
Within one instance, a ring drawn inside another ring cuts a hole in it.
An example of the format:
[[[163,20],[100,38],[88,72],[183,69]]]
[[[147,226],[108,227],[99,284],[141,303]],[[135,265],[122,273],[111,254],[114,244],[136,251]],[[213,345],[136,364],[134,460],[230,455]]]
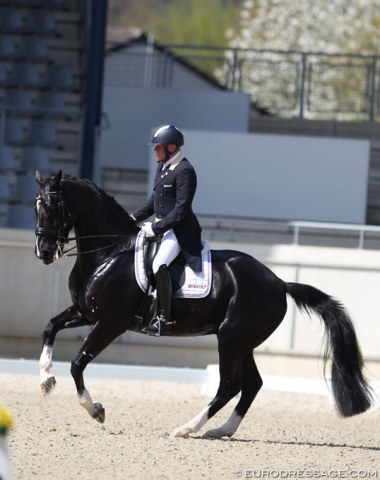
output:
[[[38,358],[41,336],[49,318],[69,306],[67,279],[73,265],[65,259],[44,266],[33,254],[32,231],[0,230],[0,357]],[[359,249],[212,243],[254,255],[286,281],[314,285],[341,300],[352,315],[366,359],[380,361],[380,254]],[[86,328],[61,332],[56,360],[71,360]],[[319,355],[323,328],[309,320],[289,300],[286,319],[261,347],[261,352]],[[150,338],[126,332],[99,361],[205,367],[217,362],[216,340]]]

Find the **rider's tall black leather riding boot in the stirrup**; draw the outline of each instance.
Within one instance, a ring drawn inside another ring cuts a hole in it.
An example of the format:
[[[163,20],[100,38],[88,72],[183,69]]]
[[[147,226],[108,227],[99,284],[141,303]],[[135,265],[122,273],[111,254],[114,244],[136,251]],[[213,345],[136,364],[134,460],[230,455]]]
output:
[[[143,329],[144,333],[159,337],[165,331],[168,324],[172,323],[172,283],[166,265],[161,265],[155,275],[157,292],[156,316],[150,325]]]

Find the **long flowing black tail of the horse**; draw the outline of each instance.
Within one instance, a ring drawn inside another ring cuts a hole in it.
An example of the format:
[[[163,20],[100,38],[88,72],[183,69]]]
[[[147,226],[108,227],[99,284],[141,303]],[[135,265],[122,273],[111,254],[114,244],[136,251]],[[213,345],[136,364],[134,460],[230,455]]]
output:
[[[371,407],[371,389],[362,374],[363,359],[353,323],[343,305],[326,293],[300,283],[286,283],[297,307],[318,314],[326,327],[324,365],[332,361],[331,383],[336,409],[343,417]]]

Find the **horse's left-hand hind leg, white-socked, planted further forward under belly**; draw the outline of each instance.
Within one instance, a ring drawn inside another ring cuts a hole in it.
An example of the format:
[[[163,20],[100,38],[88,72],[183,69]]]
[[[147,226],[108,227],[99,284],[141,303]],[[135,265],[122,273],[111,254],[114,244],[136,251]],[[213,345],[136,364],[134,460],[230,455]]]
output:
[[[188,438],[190,433],[198,432],[212,416],[239,393],[242,358],[239,352],[233,353],[235,348],[235,346],[232,346],[228,350],[222,348],[219,344],[220,384],[216,396],[197,416],[174,430],[171,434],[172,437]],[[226,350],[228,355],[223,353]]]

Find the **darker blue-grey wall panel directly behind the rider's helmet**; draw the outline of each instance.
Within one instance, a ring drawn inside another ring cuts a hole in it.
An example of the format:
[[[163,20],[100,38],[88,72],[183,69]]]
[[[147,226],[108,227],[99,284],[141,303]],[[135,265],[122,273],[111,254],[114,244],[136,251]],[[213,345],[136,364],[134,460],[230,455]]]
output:
[[[100,167],[148,169],[152,129],[165,123],[180,128],[248,132],[250,103],[241,93],[141,89],[106,86]]]

